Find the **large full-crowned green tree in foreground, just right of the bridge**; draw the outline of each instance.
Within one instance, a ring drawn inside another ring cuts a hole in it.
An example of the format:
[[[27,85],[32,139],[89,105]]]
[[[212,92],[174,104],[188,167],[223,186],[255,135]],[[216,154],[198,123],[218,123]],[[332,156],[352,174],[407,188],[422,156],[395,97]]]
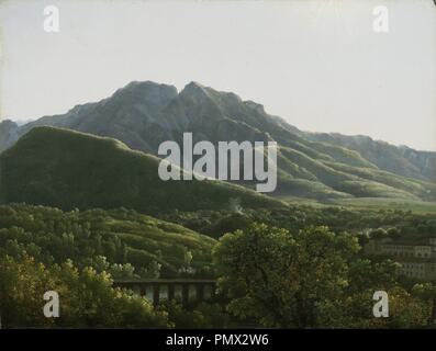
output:
[[[223,236],[214,249],[219,285],[228,310],[262,327],[316,327],[320,307],[334,303],[347,285],[347,259],[357,240],[326,227],[291,236],[254,224]]]

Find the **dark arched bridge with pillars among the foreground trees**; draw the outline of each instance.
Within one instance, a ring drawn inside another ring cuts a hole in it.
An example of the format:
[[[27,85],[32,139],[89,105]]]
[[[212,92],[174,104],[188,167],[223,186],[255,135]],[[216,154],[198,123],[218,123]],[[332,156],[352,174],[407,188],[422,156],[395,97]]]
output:
[[[183,306],[211,299],[215,294],[216,281],[202,279],[147,279],[114,281],[114,287],[125,287],[145,296],[158,305],[164,299],[181,301]]]

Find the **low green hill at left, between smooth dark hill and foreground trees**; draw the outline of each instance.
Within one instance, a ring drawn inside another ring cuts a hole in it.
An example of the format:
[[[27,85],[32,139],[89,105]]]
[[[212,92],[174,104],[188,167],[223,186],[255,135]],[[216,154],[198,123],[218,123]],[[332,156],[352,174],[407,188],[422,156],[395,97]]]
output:
[[[211,250],[216,242],[180,225],[125,208],[63,212],[46,206],[0,205],[0,256],[26,251],[47,264],[69,259],[78,267],[107,270],[115,278],[174,278],[187,268],[191,274],[211,274]],[[128,265],[118,265],[127,263],[133,272]]]

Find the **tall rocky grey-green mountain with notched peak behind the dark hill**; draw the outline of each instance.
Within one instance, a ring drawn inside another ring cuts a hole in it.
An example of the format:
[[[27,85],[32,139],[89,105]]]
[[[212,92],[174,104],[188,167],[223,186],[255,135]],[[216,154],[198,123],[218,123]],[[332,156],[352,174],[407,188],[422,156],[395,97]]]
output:
[[[131,82],[100,102],[25,124],[19,127],[16,137],[36,126],[108,136],[152,155],[157,154],[163,141],[181,144],[183,132],[193,133],[194,141],[276,140],[278,186],[273,195],[317,200],[436,199],[432,178],[435,152],[405,151],[387,145],[382,148],[373,140],[351,143],[355,137],[345,138],[349,140],[345,143],[335,135],[301,132],[269,115],[258,103],[197,82],[190,82],[180,92],[172,86]]]

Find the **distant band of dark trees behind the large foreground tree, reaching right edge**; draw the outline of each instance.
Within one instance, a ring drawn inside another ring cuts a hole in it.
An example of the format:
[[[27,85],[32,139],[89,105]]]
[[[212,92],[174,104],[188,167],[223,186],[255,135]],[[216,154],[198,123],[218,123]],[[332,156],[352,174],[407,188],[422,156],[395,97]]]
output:
[[[436,237],[434,213],[413,213],[401,210],[350,210],[343,206],[290,205],[287,208],[244,208],[231,211],[174,212],[161,215],[165,220],[219,238],[225,233],[244,229],[253,222],[287,228],[291,231],[308,226],[328,226],[336,233],[365,234],[385,228],[392,237],[416,242],[420,238]]]

